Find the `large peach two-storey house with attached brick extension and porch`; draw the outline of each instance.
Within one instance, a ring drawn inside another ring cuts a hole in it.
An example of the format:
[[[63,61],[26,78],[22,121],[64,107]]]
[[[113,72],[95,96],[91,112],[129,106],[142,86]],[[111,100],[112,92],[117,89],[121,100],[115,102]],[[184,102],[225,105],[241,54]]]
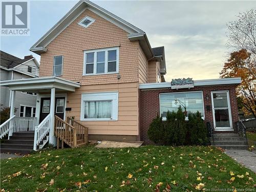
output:
[[[90,140],[149,143],[149,124],[177,110],[176,100],[215,131],[234,131],[240,78],[164,82],[164,47],[152,48],[144,31],[92,2],[79,1],[30,50],[41,56],[39,77],[1,83],[37,93],[34,150],[47,134],[54,145],[76,147],[86,127]]]

